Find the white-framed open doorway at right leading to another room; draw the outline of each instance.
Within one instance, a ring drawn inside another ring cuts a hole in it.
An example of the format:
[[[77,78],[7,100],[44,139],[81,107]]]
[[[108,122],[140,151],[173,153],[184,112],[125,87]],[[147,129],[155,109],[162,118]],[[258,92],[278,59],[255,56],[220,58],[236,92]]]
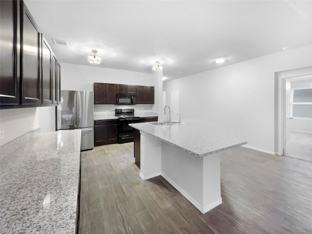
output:
[[[277,73],[275,92],[276,81],[275,153],[312,162],[312,67]]]

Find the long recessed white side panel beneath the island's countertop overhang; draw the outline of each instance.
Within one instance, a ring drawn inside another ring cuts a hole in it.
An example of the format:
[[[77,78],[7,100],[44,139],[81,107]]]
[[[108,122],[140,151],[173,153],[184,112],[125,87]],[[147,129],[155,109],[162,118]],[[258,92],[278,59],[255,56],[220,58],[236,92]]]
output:
[[[203,158],[162,142],[161,176],[203,212]]]

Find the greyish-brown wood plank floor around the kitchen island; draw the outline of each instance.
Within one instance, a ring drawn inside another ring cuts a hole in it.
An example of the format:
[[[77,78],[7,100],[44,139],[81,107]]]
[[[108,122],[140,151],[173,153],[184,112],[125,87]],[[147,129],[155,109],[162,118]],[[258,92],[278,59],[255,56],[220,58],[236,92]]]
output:
[[[311,162],[225,151],[223,203],[203,215],[161,176],[141,180],[133,143],[81,158],[79,234],[312,234]]]

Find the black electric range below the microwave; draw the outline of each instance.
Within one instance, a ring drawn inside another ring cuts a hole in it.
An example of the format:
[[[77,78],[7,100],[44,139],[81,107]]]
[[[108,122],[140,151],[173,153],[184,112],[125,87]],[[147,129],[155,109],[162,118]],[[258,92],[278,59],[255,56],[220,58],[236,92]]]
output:
[[[129,123],[140,122],[140,118],[135,116],[135,109],[115,109],[115,116],[118,117],[118,143],[133,142],[134,129]]]

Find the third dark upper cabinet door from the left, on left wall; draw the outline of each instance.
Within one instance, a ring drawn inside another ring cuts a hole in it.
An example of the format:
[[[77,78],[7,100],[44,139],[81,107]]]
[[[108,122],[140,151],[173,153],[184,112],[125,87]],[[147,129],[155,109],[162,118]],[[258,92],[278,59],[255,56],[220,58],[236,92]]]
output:
[[[52,104],[52,49],[41,34],[42,103]]]

